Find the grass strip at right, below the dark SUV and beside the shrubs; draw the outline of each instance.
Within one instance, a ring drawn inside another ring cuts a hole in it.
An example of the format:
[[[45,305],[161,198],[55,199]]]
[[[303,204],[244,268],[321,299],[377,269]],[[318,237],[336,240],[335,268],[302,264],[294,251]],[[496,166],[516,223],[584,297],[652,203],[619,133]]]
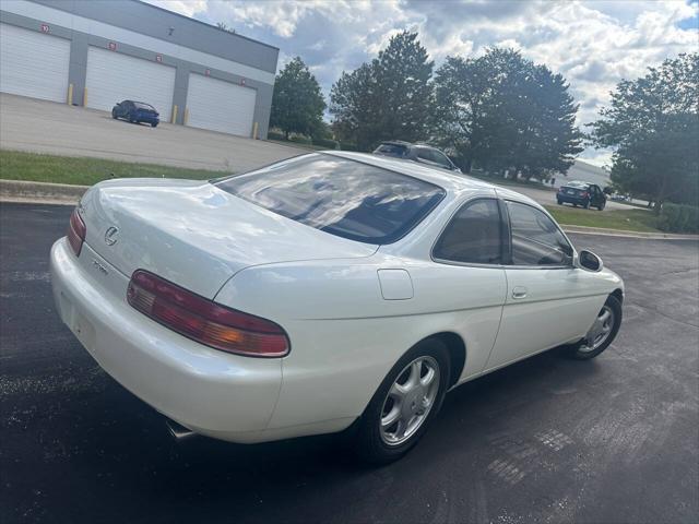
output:
[[[560,205],[547,205],[546,209],[560,225],[605,227],[607,229],[640,233],[662,233],[656,227],[656,217],[652,211],[619,210],[600,212],[596,210],[564,207]]]

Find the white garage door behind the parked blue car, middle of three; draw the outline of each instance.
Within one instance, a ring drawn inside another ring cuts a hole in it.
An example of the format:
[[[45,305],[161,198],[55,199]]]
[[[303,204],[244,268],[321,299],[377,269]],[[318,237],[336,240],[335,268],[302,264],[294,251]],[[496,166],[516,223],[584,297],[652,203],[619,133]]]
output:
[[[87,107],[110,111],[117,102],[145,102],[157,109],[162,120],[169,120],[175,68],[90,47],[85,87]]]

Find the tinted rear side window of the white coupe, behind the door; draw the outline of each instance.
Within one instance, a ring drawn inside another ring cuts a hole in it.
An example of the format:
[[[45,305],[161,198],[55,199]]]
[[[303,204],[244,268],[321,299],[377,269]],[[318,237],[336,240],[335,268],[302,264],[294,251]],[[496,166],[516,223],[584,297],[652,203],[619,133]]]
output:
[[[502,263],[502,221],[495,199],[467,202],[451,219],[433,255],[470,264]]]

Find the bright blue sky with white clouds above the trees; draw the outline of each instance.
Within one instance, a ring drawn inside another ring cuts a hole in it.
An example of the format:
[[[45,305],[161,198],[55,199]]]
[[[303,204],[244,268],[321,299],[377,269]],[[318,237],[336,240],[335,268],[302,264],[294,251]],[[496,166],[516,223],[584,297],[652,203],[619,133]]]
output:
[[[343,70],[375,58],[403,29],[418,32],[436,67],[448,56],[512,47],[568,80],[583,130],[620,80],[699,51],[698,0],[147,1],[279,47],[277,71],[300,56],[327,99]],[[602,166],[609,155],[589,148],[581,158]]]

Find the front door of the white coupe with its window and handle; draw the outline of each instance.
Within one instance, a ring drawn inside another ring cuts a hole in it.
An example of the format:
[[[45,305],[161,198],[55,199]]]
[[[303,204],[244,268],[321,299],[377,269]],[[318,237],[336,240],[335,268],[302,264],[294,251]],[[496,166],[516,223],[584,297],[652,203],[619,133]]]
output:
[[[508,200],[505,207],[508,289],[487,369],[580,340],[601,308],[590,273],[572,265],[572,246],[556,223],[523,202]]]

